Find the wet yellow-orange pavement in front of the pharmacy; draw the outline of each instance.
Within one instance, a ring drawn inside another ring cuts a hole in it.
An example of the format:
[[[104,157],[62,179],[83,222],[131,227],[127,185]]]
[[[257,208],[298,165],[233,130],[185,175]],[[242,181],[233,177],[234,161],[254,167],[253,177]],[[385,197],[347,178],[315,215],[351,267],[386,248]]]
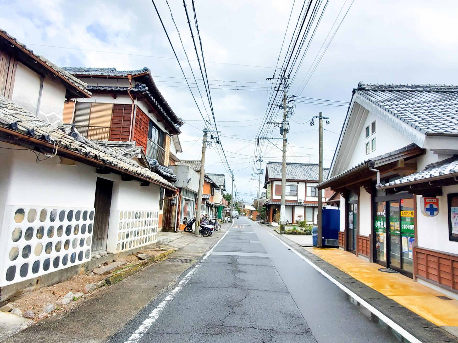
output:
[[[375,289],[438,326],[458,327],[458,301],[437,298],[442,293],[398,273],[383,273],[379,264],[369,263],[350,252],[333,248],[306,248],[354,279]]]

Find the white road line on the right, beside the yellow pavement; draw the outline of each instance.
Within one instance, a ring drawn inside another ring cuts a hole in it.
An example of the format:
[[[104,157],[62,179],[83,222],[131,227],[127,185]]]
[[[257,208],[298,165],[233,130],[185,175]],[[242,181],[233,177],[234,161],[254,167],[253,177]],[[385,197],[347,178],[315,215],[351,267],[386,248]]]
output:
[[[267,231],[268,232],[268,231]],[[389,327],[391,327],[394,331],[398,332],[403,338],[407,339],[410,343],[422,343],[418,338],[414,337],[410,332],[407,330],[403,329],[399,324],[393,322],[390,318],[385,316],[382,312],[377,310],[374,306],[363,300],[359,295],[356,295],[353,291],[345,287],[343,284],[338,282],[336,279],[334,279],[331,275],[326,273],[324,270],[322,270],[320,267],[318,267],[315,263],[311,262],[307,257],[303,256],[299,252],[297,252],[293,247],[290,247],[288,244],[286,244],[284,241],[279,239],[278,237],[275,237],[271,232],[268,232],[270,235],[273,236],[273,238],[277,239],[282,243],[285,247],[291,249],[292,252],[294,252],[297,256],[302,258],[305,262],[310,264],[313,268],[315,268],[319,273],[324,275],[327,279],[329,279],[333,284],[335,284],[338,288],[342,289],[345,293],[347,293],[349,296],[351,296],[354,300],[358,301],[361,305],[363,305],[366,309],[371,311],[374,315],[376,315],[382,322],[387,324]]]

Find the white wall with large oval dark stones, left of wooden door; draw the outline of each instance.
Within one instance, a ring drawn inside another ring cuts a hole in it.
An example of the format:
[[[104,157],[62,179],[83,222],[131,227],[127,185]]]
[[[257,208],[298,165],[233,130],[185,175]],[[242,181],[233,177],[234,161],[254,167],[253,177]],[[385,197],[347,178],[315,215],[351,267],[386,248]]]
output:
[[[8,205],[0,232],[0,286],[91,258],[94,208]]]

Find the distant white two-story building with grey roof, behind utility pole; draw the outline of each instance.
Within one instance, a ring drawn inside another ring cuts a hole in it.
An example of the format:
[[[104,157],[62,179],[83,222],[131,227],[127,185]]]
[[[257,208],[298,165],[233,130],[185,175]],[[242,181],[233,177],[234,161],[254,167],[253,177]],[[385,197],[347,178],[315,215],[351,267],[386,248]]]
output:
[[[329,168],[323,168],[323,177],[327,177]],[[308,224],[316,224],[318,214],[318,165],[313,163],[286,163],[286,209],[285,221],[293,223],[302,216]],[[264,188],[267,189],[263,204],[266,208],[267,222],[275,225],[280,220],[282,198],[282,162],[267,162]],[[328,191],[323,194],[323,202],[330,197]]]

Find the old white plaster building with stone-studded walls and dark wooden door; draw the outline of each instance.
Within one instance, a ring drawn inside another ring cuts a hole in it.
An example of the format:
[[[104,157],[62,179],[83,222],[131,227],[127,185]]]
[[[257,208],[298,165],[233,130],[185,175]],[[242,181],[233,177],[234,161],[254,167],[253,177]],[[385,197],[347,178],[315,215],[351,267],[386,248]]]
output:
[[[65,102],[90,99],[87,84],[1,30],[0,66],[3,305],[154,246],[160,189],[176,187],[136,145],[87,139],[63,125]]]

